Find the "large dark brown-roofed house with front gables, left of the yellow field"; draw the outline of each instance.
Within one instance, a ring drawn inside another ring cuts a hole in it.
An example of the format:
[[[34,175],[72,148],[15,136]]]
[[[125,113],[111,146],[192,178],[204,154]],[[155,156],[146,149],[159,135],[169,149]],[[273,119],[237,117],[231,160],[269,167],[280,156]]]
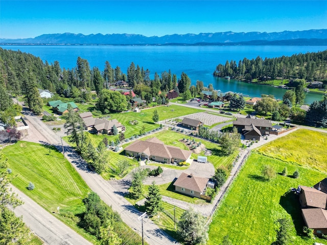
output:
[[[260,140],[261,136],[269,135],[272,124],[267,119],[260,118],[240,118],[233,121],[233,126],[242,133],[245,139]]]

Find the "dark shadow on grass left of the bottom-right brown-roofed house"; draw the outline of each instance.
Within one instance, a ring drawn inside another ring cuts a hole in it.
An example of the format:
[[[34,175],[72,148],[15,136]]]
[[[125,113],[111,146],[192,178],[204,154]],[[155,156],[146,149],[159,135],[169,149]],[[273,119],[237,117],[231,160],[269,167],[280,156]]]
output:
[[[303,233],[303,227],[306,226],[306,224],[301,214],[301,205],[298,195],[294,194],[292,191],[287,191],[282,195],[279,204],[291,215],[297,235],[306,237]]]

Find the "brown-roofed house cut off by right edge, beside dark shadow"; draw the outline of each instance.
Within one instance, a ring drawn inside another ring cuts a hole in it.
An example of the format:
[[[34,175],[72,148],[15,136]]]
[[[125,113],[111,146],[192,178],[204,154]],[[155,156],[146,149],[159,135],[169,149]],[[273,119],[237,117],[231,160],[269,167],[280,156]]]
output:
[[[314,230],[315,235],[327,235],[327,192],[326,179],[314,185],[314,188],[299,186],[299,202],[306,226]],[[322,187],[322,188],[321,188]]]

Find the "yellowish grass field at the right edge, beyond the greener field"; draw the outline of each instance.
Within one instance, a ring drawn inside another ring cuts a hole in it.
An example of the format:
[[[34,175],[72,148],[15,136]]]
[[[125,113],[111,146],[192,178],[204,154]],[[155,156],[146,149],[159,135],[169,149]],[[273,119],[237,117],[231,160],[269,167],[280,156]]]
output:
[[[327,134],[298,129],[295,132],[261,146],[258,152],[301,166],[327,172]]]

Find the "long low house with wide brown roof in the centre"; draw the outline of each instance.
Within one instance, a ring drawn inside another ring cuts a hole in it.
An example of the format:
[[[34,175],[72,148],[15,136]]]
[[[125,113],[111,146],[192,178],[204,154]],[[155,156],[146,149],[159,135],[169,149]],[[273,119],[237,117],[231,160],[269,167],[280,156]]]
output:
[[[190,160],[191,151],[182,150],[153,137],[147,140],[135,140],[125,148],[127,156],[153,160],[162,163],[179,163]]]

